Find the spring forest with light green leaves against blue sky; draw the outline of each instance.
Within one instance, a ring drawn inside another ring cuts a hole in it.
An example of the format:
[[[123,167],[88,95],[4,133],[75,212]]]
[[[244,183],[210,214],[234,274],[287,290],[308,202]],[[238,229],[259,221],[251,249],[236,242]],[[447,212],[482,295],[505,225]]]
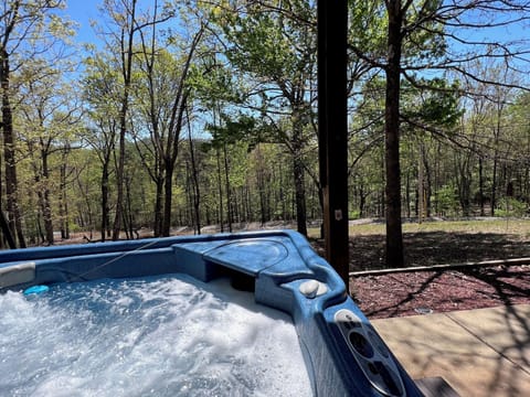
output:
[[[321,218],[317,1],[103,0],[93,43],[67,6],[1,2],[2,246]],[[350,218],[527,214],[529,21],[349,2]]]

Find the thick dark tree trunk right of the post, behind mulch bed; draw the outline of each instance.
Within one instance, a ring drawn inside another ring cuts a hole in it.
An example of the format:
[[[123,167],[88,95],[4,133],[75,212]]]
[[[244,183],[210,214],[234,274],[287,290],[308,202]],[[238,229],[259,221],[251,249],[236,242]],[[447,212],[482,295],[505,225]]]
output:
[[[386,173],[386,266],[402,267],[403,232],[401,225],[400,170],[400,89],[401,89],[401,26],[403,11],[400,0],[386,2],[389,13],[386,93],[384,112]]]

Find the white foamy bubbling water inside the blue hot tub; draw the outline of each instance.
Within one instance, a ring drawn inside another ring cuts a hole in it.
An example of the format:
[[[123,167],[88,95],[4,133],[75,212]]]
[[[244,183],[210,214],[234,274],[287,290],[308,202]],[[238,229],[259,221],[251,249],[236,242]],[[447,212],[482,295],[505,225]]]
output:
[[[0,294],[6,396],[310,396],[295,328],[182,275]]]

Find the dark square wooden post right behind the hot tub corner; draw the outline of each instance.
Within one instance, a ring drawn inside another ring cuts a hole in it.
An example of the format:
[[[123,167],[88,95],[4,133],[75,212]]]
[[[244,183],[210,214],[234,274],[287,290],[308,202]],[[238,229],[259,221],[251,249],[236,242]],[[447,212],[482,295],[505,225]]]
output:
[[[326,258],[349,291],[347,0],[318,0],[318,136]]]

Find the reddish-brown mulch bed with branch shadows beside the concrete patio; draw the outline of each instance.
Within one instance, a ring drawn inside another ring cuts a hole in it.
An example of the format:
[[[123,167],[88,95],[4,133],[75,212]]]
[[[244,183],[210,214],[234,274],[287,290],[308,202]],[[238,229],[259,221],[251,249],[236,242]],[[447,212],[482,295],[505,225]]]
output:
[[[353,277],[350,291],[372,319],[530,303],[530,266]]]

